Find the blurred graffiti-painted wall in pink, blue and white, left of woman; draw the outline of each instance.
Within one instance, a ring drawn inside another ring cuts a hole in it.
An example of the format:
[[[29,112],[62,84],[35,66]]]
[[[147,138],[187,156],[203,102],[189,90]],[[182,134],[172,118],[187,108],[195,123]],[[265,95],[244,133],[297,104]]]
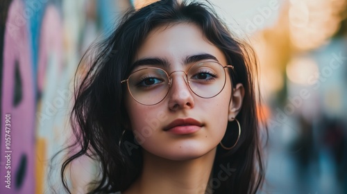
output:
[[[49,174],[48,165],[70,134],[69,106],[78,62],[104,26],[117,19],[118,9],[130,3],[0,4],[0,193],[51,193],[49,186],[60,182],[60,175]]]

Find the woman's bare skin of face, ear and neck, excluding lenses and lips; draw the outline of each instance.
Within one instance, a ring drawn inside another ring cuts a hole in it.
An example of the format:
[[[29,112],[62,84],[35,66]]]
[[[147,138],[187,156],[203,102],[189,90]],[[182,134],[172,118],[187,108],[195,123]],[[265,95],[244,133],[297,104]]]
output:
[[[181,23],[155,28],[134,61],[162,58],[169,66],[158,64],[158,67],[171,73],[187,71],[196,62],[185,64],[185,58],[202,53],[213,55],[217,62],[227,65],[221,50],[208,42],[198,26]],[[143,66],[133,71],[141,68]],[[200,98],[189,89],[183,76],[182,72],[173,74],[169,94],[157,105],[142,105],[126,94],[130,128],[135,136],[146,134],[138,139],[144,156],[142,175],[124,192],[126,194],[205,193],[217,145],[223,139],[228,121],[235,118],[242,106],[244,88],[238,84],[232,91],[227,77],[219,95]],[[194,134],[165,132],[163,128],[177,118],[194,118],[203,123],[203,127]]]

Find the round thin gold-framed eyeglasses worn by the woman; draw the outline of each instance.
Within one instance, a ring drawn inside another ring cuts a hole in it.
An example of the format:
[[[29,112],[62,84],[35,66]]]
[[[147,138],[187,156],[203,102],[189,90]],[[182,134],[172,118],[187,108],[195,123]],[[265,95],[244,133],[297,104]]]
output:
[[[225,68],[234,69],[232,65],[223,67],[219,62],[200,62],[189,67],[188,71],[173,71],[170,74],[158,67],[146,67],[130,74],[127,82],[130,95],[142,105],[156,105],[169,94],[172,84],[172,73],[184,72],[185,82],[189,89],[201,98],[213,98],[226,85]]]

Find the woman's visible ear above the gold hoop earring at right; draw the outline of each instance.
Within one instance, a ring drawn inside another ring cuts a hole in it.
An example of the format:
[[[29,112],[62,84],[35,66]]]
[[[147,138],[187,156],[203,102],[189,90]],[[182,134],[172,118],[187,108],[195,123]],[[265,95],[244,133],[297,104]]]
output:
[[[237,84],[235,88],[232,88],[232,96],[229,103],[228,121],[233,121],[234,118],[239,114],[242,103],[244,100],[244,85],[241,83]]]

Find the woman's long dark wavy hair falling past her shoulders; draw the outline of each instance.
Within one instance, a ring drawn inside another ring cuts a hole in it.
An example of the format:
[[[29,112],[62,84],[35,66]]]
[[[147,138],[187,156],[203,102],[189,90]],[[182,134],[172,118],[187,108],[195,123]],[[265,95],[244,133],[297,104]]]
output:
[[[71,111],[76,141],[67,148],[77,151],[69,155],[61,168],[62,184],[69,193],[67,168],[71,161],[83,155],[98,161],[100,167],[99,175],[90,183],[90,193],[126,191],[141,173],[142,148],[136,144],[132,133],[123,134],[129,118],[124,103],[126,87],[121,85],[121,80],[129,76],[137,49],[151,30],[178,23],[201,28],[205,37],[223,52],[228,64],[235,67],[230,71],[232,87],[242,83],[245,89],[244,103],[237,115],[242,133],[232,150],[218,145],[212,178],[218,179],[222,166],[235,171],[218,186],[210,185],[210,188],[214,193],[256,193],[261,188],[264,162],[257,117],[260,100],[256,98],[254,84],[257,60],[250,46],[233,37],[210,7],[210,3],[197,1],[164,0],[139,10],[129,10],[115,31],[90,47],[83,56],[76,71]],[[235,131],[235,122],[228,123],[223,142],[235,142]],[[138,146],[128,152],[120,141]]]

